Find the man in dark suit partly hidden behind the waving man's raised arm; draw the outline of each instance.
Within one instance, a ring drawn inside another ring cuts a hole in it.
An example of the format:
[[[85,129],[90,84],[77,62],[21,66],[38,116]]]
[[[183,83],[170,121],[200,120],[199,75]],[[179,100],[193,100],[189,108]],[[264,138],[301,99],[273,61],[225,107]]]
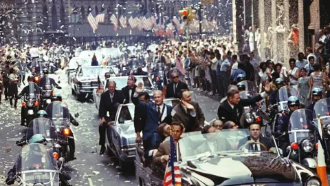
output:
[[[140,92],[139,99],[141,102],[148,103],[150,101],[150,96],[148,92]],[[142,141],[141,131],[146,123],[146,110],[143,105],[135,105],[134,108],[134,129],[136,133],[136,142]]]

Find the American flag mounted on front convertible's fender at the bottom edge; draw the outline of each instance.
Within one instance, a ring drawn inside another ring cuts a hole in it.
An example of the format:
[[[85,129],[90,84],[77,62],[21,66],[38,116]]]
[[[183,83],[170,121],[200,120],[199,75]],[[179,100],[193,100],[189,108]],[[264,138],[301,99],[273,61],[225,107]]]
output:
[[[181,186],[181,173],[179,163],[177,163],[177,150],[173,137],[170,136],[170,157],[165,170],[164,186]]]

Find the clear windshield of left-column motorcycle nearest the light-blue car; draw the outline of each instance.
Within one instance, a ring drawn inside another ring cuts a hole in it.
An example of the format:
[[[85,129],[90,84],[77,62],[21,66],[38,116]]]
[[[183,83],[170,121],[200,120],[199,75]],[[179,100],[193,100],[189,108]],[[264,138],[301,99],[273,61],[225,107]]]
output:
[[[46,107],[48,116],[52,119],[54,125],[69,125],[69,109],[61,102],[54,101]]]

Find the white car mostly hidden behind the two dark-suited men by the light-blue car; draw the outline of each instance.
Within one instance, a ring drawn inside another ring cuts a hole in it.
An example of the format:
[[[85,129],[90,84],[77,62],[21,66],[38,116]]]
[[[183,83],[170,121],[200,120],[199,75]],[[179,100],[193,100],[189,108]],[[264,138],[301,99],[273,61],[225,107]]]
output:
[[[127,85],[127,78],[128,78],[128,76],[110,77],[109,79],[106,79],[102,82],[102,85],[101,85],[102,87],[100,87],[100,89],[99,88],[94,89],[93,99],[94,99],[94,103],[95,103],[96,108],[97,109],[99,108],[101,94],[108,90],[108,88],[106,87],[107,81],[109,81],[109,80],[115,81],[115,83],[116,83],[115,90],[122,90],[122,88]],[[153,91],[155,90],[155,87],[154,87],[153,83],[151,83],[152,82],[151,79],[149,79],[148,76],[135,76],[135,78],[136,78],[135,85],[142,82],[143,83],[143,89],[146,92],[148,92],[150,98],[152,99],[153,98]]]

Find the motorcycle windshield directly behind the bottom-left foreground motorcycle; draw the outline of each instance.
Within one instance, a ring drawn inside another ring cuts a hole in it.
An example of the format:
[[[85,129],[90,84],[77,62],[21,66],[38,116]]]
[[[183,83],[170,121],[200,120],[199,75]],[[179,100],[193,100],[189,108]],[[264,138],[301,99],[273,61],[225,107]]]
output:
[[[30,121],[26,139],[29,140],[34,134],[42,134],[47,141],[57,138],[55,126],[49,118],[35,118]]]

